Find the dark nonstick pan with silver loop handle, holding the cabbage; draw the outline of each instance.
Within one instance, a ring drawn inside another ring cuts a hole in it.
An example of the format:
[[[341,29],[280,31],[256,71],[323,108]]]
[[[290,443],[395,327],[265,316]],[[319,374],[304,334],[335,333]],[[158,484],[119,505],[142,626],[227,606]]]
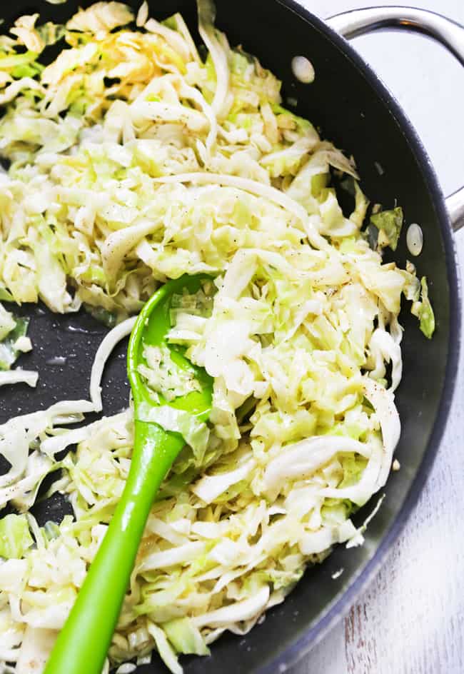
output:
[[[126,1],[134,8],[140,4],[138,0]],[[41,20],[64,21],[78,4],[88,6],[91,2],[5,2],[0,9],[0,18],[5,20],[2,28],[21,14],[36,11]],[[193,0],[153,0],[149,4],[158,19],[180,11],[198,36]],[[420,223],[425,243],[418,271],[428,277],[437,321],[435,336],[428,341],[407,308],[400,316],[405,326],[404,376],[396,397],[403,423],[396,451],[401,470],[388,480],[385,499],[370,522],[365,544],[350,550],[340,546],[322,565],[308,569],[285,603],[269,610],[266,620],[245,637],[223,635],[213,645],[211,657],[182,659],[186,674],[271,674],[285,671],[346,613],[385,559],[438,451],[458,367],[460,289],[452,230],[464,223],[464,193],[461,190],[443,198],[410,122],[341,34],[349,37],[374,28],[405,26],[439,39],[464,64],[464,28],[437,14],[402,7],[353,11],[326,22],[292,0],[217,0],[217,9],[216,23],[227,32],[231,44],[242,44],[281,78],[284,101],[297,99],[298,114],[311,119],[323,136],[355,156],[368,196],[385,208],[399,203],[406,222]],[[316,70],[316,80],[310,86],[298,83],[292,75],[291,60],[300,54],[308,56]],[[453,151],[452,143],[450,147]],[[404,266],[407,256],[403,235],[393,258]],[[59,399],[86,397],[91,363],[105,332],[85,313],[54,316],[35,306],[23,306],[19,311],[31,316],[35,346],[20,365],[39,371],[39,386],[35,391],[25,386],[4,388],[0,392],[0,421],[45,408]],[[128,400],[125,348],[123,344],[116,351],[106,372],[106,413],[118,411]],[[66,366],[47,363],[55,356],[67,356]],[[375,502],[374,497],[358,513],[358,523]],[[69,504],[57,496],[35,508],[41,524],[59,520],[69,511]],[[343,573],[332,578],[341,568]],[[156,655],[151,665],[138,668],[140,674],[163,671]]]

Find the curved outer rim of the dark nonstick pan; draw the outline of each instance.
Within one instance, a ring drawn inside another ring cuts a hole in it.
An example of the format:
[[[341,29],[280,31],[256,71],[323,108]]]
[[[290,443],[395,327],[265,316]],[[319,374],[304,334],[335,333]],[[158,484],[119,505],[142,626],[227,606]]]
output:
[[[403,505],[396,515],[393,523],[390,525],[387,533],[380,541],[373,557],[365,563],[363,568],[351,580],[348,588],[329,606],[326,613],[304,633],[297,638],[294,643],[286,646],[276,657],[268,660],[265,665],[256,668],[258,674],[275,674],[284,672],[307,655],[324,636],[331,631],[335,625],[348,614],[351,605],[359,597],[360,593],[373,581],[380,568],[384,565],[388,554],[393,548],[393,544],[398,539],[400,533],[405,527],[410,514],[415,508],[418,498],[423,491],[430,470],[438,453],[438,448],[445,433],[446,423],[450,413],[450,407],[453,402],[455,385],[458,376],[458,363],[461,348],[461,323],[462,323],[462,287],[460,283],[460,268],[458,263],[458,254],[455,245],[453,229],[450,223],[443,191],[438,183],[438,178],[433,168],[433,164],[420,140],[417,131],[407,114],[400,106],[395,96],[385,86],[375,70],[363,59],[349,42],[326,24],[323,19],[313,14],[311,11],[298,4],[295,0],[275,0],[277,4],[285,7],[299,18],[306,21],[313,29],[316,29],[329,41],[332,46],[339,49],[344,56],[348,57],[350,63],[357,71],[364,76],[370,85],[375,96],[388,107],[395,120],[398,131],[403,134],[405,140],[413,153],[414,159],[418,164],[425,184],[430,192],[435,214],[440,226],[440,232],[443,237],[443,246],[445,249],[445,263],[447,268],[448,288],[450,292],[450,322],[448,325],[448,354],[445,368],[445,379],[443,391],[441,393],[440,406],[433,425],[433,431],[430,435],[428,445],[425,448],[423,459],[418,471],[416,471],[412,483],[405,496]]]

